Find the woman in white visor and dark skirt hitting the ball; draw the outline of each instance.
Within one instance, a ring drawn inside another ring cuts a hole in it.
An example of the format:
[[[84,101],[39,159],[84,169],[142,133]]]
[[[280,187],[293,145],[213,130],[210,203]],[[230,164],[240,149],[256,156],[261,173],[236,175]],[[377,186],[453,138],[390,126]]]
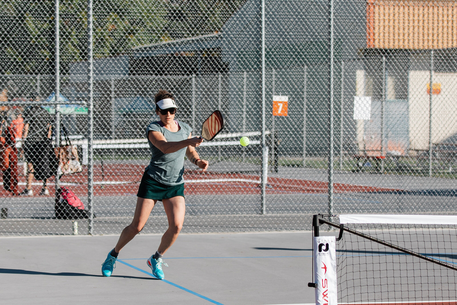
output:
[[[201,160],[195,148],[203,139],[192,137],[192,128],[175,120],[178,107],[173,95],[160,90],[155,95],[155,113],[160,121],[149,124],[146,128],[149,150],[152,154],[149,166],[144,171],[137,193],[137,205],[130,225],[122,230],[116,246],[101,267],[103,276],[111,276],[119,251],[135,237],[146,224],[149,214],[157,201],[164,204],[168,218],[168,229],[162,236],[159,248],[147,264],[156,278],[164,279],[162,256],[176,241],[184,223],[186,205],[184,201],[184,156],[192,163],[206,171],[208,161]]]

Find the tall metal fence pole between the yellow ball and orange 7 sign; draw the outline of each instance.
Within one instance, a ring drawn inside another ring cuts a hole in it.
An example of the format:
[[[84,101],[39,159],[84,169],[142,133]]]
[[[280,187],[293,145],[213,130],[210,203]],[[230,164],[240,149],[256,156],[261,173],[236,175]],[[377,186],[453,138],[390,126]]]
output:
[[[262,7],[262,28],[261,28],[261,43],[262,43],[262,172],[261,172],[261,191],[260,201],[262,206],[262,214],[266,214],[266,184],[268,181],[268,147],[266,146],[266,102],[265,102],[265,0],[260,0]]]

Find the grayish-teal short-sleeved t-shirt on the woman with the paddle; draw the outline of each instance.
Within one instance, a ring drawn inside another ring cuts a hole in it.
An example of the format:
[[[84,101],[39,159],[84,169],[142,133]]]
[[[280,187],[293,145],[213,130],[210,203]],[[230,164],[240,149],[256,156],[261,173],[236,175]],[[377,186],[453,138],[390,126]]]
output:
[[[163,134],[167,142],[177,142],[185,140],[192,132],[192,128],[184,123],[175,120],[180,129],[177,132],[171,132],[163,127],[162,122],[150,123],[146,128],[146,138],[148,139],[149,150],[152,154],[149,166],[146,168],[148,175],[155,181],[165,185],[178,185],[184,183],[182,174],[184,173],[184,156],[187,147],[174,153],[164,154],[151,141],[149,141],[149,131],[158,131]]]

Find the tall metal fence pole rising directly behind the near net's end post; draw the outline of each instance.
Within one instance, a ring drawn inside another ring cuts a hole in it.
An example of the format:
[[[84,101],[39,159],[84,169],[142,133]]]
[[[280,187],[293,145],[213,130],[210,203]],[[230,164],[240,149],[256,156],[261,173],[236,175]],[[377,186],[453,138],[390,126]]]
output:
[[[333,215],[333,0],[329,0],[328,212]]]

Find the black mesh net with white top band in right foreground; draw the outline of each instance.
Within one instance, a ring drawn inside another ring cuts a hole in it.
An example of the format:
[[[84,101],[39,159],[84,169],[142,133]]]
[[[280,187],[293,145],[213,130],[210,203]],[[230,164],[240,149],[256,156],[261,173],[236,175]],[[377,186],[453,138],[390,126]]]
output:
[[[314,236],[317,222],[338,235],[338,304],[457,304],[457,216],[319,215]]]

